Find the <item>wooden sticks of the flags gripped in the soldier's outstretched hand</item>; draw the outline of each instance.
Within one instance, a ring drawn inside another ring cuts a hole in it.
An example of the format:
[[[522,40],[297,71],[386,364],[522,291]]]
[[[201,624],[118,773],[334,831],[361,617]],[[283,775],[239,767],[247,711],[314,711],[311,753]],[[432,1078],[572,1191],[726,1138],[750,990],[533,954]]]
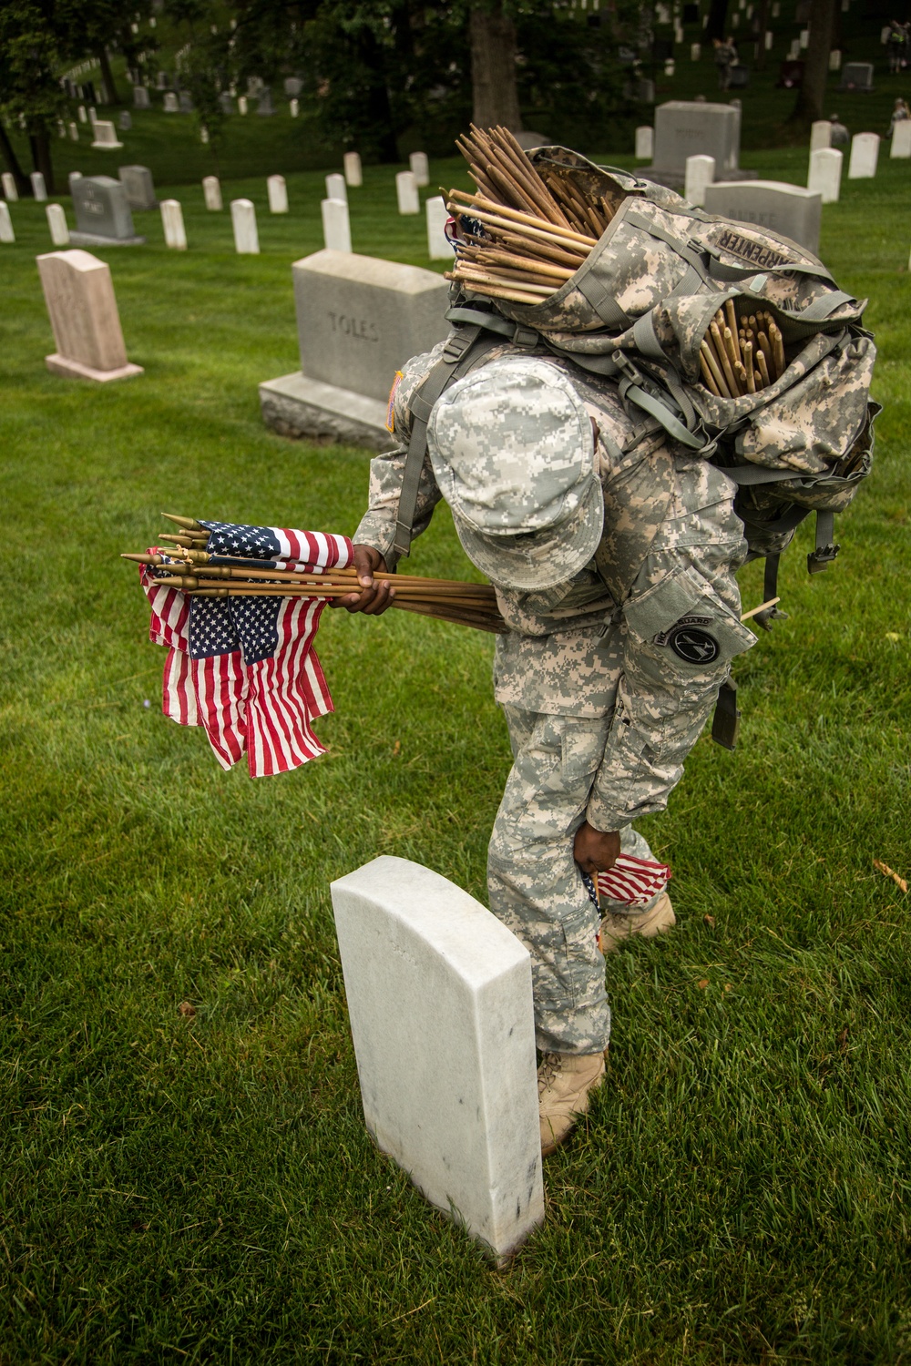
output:
[[[328,570],[322,574],[299,574],[277,568],[264,560],[250,560],[249,566],[213,564],[216,556],[205,549],[209,531],[193,518],[179,518],[179,533],[163,531],[157,541],[165,546],[163,555],[122,555],[134,564],[146,564],[163,571],[152,579],[156,586],[179,589],[197,597],[300,597],[340,598],[358,593],[354,568]],[[391,583],[395,590],[392,607],[419,616],[433,616],[441,622],[473,626],[478,631],[501,632],[507,624],[497,609],[497,600],[489,583],[460,583],[452,579],[425,579],[408,574],[374,574],[378,582]]]

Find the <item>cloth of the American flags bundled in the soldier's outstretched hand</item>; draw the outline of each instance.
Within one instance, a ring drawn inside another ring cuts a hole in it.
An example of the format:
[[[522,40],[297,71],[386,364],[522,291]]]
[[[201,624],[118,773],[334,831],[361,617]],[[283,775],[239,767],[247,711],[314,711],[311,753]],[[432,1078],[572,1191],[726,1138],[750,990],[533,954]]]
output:
[[[347,535],[273,526],[202,522],[214,564],[260,560],[300,574],[351,564]],[[157,553],[167,555],[165,550]],[[325,753],[313,721],[332,697],[313,649],[325,598],[198,598],[156,587],[149,639],[168,649],[161,710],[179,725],[202,725],[223,768],[246,753],[251,777],[287,773]]]

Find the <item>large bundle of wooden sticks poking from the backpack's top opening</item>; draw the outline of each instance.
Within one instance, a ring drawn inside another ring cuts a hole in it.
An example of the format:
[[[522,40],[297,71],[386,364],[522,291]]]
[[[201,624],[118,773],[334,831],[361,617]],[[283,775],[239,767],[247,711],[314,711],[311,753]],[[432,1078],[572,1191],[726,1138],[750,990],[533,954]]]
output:
[[[508,128],[471,124],[458,146],[478,193],[449,191],[459,242],[447,279],[492,299],[541,303],[575,275],[613,210],[556,171],[539,173]]]

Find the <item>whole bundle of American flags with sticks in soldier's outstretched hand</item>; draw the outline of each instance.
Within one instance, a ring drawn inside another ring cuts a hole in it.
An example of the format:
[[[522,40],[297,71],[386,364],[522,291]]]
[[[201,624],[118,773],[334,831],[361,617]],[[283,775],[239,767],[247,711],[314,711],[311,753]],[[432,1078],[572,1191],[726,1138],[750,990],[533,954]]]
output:
[[[333,708],[313,642],[326,602],[358,590],[348,537],[169,520],[179,530],[161,534],[164,549],[124,556],[141,566],[149,638],[168,650],[164,714],[204,727],[225,769],[246,754],[251,777],[285,773],[325,753],[313,721]],[[490,585],[404,575],[392,582],[395,607],[504,628]]]

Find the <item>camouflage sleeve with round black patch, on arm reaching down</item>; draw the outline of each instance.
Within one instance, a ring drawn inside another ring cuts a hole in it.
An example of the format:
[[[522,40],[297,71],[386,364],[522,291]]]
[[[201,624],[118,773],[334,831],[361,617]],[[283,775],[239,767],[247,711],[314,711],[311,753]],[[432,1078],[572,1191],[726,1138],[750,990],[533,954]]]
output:
[[[668,520],[623,608],[623,668],[587,820],[619,831],[662,811],[714,708],[731,663],[755,637],[740,623],[735,570],[746,559],[731,481],[676,460]]]

